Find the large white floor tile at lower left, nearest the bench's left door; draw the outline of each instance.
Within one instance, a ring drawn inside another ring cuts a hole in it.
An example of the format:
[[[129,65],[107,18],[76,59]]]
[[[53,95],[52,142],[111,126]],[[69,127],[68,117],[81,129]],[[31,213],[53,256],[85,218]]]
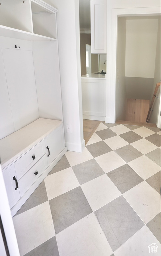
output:
[[[55,236],[49,202],[13,217],[20,256]]]

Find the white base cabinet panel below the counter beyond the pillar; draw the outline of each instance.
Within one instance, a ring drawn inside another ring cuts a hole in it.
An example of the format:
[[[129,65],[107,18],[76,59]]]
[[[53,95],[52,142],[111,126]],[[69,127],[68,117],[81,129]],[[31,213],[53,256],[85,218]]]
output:
[[[105,121],[106,79],[81,78],[83,119]]]

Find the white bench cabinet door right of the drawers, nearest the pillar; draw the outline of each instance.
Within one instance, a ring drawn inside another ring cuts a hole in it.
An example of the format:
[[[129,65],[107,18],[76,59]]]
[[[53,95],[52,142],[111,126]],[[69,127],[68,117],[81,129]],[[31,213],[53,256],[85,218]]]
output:
[[[45,145],[49,166],[65,147],[63,125],[60,125],[56,130],[54,130],[45,138]]]

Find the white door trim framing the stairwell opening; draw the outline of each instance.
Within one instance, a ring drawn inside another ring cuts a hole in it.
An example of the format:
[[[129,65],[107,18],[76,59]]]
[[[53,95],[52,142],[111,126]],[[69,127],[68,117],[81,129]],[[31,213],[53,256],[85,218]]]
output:
[[[119,8],[112,9],[111,22],[107,21],[107,75],[106,75],[106,123],[115,123],[116,100],[116,58],[117,58],[117,25],[119,16],[160,15],[160,7]],[[109,30],[109,31],[108,31]]]

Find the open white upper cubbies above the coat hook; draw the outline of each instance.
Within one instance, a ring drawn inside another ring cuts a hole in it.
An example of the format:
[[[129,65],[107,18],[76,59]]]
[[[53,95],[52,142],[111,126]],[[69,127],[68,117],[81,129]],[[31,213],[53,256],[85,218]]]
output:
[[[23,40],[57,40],[57,9],[41,0],[1,0],[0,35]]]

